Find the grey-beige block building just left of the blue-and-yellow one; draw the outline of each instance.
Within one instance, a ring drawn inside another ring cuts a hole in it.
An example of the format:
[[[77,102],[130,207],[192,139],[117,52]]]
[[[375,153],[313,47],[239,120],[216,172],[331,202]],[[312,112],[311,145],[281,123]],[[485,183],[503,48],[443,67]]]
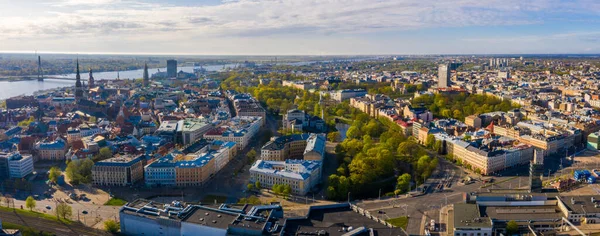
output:
[[[92,167],[95,185],[131,186],[144,179],[144,155],[117,156],[96,162]]]

